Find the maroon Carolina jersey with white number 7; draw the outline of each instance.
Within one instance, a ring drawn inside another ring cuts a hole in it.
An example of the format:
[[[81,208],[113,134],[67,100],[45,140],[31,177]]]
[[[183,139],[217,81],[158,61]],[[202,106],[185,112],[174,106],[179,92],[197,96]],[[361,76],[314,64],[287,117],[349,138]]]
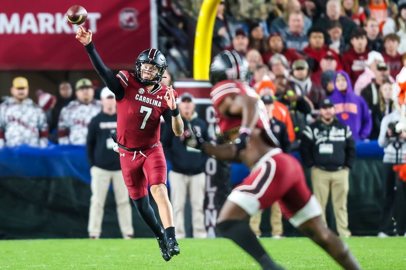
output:
[[[124,98],[117,100],[117,141],[127,148],[146,148],[159,142],[160,118],[169,109],[163,99],[166,86],[159,84],[148,92],[133,73],[116,75],[124,87]],[[178,94],[174,91],[175,99]]]

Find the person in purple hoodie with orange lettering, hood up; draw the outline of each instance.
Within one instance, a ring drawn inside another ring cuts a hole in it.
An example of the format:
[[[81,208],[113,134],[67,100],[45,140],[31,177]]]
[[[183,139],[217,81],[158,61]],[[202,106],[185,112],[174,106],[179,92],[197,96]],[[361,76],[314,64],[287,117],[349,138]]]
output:
[[[336,117],[350,127],[355,140],[368,138],[372,119],[365,100],[353,92],[347,72],[335,72],[333,83],[330,99],[334,103]]]

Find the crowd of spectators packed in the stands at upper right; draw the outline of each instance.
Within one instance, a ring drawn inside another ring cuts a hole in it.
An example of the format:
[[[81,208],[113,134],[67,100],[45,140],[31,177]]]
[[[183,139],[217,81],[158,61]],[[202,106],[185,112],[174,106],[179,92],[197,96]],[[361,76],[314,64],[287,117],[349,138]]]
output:
[[[296,140],[325,97],[356,140],[377,139],[405,59],[406,1],[254,2],[263,4],[257,12],[248,2],[220,2],[213,54],[234,49],[247,58],[250,86],[263,95],[272,84],[267,94],[290,112]]]

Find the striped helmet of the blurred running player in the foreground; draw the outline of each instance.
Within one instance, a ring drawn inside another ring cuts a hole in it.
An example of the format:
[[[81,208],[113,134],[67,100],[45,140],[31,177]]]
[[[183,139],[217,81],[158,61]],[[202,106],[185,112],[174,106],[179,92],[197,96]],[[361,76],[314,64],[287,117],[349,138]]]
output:
[[[246,81],[248,61],[237,51],[222,51],[213,58],[209,78],[212,85],[224,80]]]

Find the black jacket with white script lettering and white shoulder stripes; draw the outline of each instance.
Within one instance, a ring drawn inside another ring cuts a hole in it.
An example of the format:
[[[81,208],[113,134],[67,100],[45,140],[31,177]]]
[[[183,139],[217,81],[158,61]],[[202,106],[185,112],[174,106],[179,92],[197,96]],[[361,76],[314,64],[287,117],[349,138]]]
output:
[[[350,127],[337,119],[330,125],[317,120],[303,131],[300,156],[304,166],[326,171],[337,171],[344,166],[351,168],[355,155]]]

